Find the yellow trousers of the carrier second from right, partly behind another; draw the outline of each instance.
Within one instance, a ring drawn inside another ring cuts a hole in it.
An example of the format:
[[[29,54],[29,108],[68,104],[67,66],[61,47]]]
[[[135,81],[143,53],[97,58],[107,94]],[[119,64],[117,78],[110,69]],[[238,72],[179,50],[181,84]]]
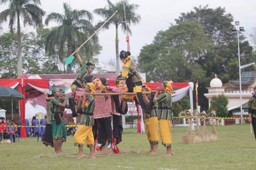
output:
[[[147,134],[147,139],[153,145],[158,144],[158,117],[154,116],[148,119],[145,119],[145,131]]]

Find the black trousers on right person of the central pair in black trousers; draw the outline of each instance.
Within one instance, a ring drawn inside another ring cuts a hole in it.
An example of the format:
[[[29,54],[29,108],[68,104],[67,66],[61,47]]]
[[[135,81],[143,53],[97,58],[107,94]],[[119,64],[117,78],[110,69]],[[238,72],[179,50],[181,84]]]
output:
[[[113,116],[113,136],[116,138],[116,144],[122,141],[123,133],[123,123],[122,116],[112,115]]]

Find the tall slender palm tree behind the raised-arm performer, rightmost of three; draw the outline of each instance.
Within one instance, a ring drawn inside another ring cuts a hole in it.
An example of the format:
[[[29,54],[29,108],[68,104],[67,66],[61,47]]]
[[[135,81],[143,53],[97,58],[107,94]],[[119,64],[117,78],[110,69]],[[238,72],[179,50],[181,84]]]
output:
[[[137,24],[140,22],[140,15],[136,14],[134,11],[137,10],[139,5],[137,4],[128,4],[127,0],[119,1],[115,4],[113,4],[110,0],[108,1],[108,5],[106,5],[104,8],[98,8],[94,10],[94,13],[104,17],[104,19],[108,19],[112,14],[115,13],[116,10],[118,10],[118,13],[108,22],[105,24],[104,28],[109,29],[110,24],[114,24],[116,28],[116,73],[120,72],[120,66],[119,66],[119,49],[118,49],[118,26],[121,26],[121,29],[123,32],[128,32],[131,34],[130,25],[131,24]],[[126,13],[126,21],[127,21],[127,30],[126,30],[126,24],[125,24],[125,15],[124,15],[124,6],[125,4],[125,13]],[[100,21],[97,26],[100,26],[103,21]]]

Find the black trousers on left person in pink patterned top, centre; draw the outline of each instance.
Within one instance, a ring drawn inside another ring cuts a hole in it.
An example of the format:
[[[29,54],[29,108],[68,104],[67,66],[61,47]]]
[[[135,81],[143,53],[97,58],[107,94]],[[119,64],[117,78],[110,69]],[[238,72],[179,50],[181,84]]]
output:
[[[104,144],[106,140],[112,139],[111,116],[96,119],[98,128],[98,143]]]

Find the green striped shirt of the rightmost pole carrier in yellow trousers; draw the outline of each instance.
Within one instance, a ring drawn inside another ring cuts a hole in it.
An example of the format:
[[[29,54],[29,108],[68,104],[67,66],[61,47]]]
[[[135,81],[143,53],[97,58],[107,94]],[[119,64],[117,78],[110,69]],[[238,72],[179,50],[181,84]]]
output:
[[[154,102],[158,103],[158,119],[172,120],[172,96],[168,92],[165,92],[154,99]],[[161,107],[168,107],[170,109],[159,109]]]

